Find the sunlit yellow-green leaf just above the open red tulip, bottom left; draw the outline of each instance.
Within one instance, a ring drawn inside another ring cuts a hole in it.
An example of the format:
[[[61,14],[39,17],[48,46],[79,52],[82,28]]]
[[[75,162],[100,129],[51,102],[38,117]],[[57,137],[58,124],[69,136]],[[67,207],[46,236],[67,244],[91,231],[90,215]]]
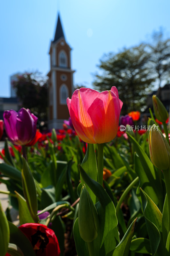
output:
[[[33,218],[28,210],[28,206],[26,204],[26,200],[22,197],[18,192],[16,192],[18,198],[18,205],[19,205],[19,223],[20,225],[25,223],[34,223]]]

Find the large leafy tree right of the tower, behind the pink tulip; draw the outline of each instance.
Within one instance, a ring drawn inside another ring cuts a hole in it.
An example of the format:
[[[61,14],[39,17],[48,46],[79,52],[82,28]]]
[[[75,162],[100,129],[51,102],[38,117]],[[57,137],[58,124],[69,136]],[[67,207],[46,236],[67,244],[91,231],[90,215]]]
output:
[[[94,88],[104,91],[116,86],[123,102],[122,115],[146,107],[147,94],[155,81],[147,67],[150,54],[145,48],[145,44],[140,44],[116,55],[110,53],[105,60],[100,60],[99,68],[104,73],[95,75]]]

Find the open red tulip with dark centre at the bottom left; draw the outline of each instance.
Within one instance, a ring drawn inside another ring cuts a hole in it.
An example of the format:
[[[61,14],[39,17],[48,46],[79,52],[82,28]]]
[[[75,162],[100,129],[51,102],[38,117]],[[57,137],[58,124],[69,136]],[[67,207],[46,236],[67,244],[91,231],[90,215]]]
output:
[[[60,247],[52,229],[38,223],[26,223],[19,229],[30,240],[37,256],[59,256]]]

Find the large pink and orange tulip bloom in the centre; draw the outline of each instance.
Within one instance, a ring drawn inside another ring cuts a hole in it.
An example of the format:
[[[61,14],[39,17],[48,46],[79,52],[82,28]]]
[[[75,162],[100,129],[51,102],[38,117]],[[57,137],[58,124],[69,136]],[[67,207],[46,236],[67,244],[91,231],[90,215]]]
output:
[[[67,98],[71,121],[78,136],[86,143],[100,144],[116,137],[122,108],[115,86],[110,91],[77,89]]]

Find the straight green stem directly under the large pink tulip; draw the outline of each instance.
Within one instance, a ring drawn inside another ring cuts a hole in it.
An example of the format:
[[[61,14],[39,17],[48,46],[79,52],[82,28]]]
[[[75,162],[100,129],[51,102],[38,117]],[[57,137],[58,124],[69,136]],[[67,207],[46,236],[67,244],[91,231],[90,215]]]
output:
[[[98,182],[103,186],[103,145],[104,143],[97,144],[98,155],[97,155],[97,172]]]

